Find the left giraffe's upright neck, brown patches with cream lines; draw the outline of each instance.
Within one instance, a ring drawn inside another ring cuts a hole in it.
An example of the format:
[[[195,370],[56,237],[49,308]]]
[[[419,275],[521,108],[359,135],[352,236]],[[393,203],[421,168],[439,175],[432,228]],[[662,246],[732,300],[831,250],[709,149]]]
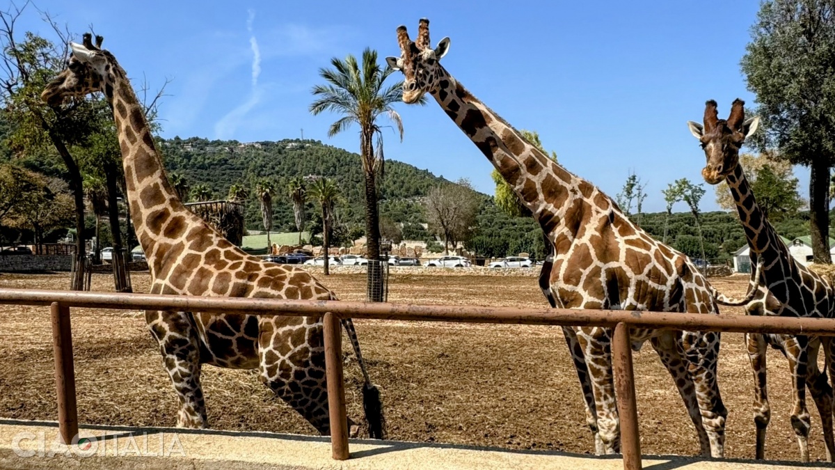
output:
[[[188,220],[193,214],[180,202],[165,176],[148,120],[124,70],[118,66],[114,67],[112,89],[106,88],[105,96],[113,107],[136,237],[149,260],[160,257],[164,255],[160,250],[166,246],[160,243],[166,224],[175,215]]]

